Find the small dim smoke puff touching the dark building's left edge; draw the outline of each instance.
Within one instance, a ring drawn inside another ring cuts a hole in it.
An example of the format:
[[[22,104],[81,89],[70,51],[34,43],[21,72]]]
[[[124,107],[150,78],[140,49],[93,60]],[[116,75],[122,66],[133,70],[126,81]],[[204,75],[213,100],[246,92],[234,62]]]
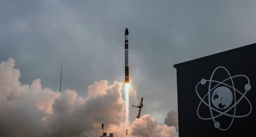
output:
[[[167,113],[167,117],[165,118],[166,125],[175,126],[178,129],[178,111],[177,109],[171,110]]]

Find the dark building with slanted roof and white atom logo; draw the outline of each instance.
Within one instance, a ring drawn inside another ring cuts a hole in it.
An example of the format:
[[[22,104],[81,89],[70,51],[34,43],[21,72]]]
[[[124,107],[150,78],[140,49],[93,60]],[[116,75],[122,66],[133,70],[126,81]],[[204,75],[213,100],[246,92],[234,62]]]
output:
[[[174,68],[179,137],[255,136],[256,43]]]

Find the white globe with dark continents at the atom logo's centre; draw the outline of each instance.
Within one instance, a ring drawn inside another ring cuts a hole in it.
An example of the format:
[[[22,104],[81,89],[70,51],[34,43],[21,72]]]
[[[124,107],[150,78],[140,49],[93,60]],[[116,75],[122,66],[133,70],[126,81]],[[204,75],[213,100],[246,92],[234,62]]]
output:
[[[216,108],[227,109],[233,101],[233,94],[229,88],[221,86],[212,92],[211,101]]]

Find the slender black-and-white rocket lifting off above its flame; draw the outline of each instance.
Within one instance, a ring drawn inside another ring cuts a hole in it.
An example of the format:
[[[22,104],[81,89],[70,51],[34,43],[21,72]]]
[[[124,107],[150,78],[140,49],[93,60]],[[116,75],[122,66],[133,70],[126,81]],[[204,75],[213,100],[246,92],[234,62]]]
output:
[[[129,62],[128,62],[128,53],[129,53],[129,31],[126,28],[125,33],[125,83],[129,83]]]

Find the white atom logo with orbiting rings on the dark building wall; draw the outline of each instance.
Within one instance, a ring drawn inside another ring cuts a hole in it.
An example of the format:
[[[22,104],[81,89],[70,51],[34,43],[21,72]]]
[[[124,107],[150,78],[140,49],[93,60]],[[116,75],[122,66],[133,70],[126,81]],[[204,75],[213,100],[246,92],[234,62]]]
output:
[[[212,77],[214,76],[214,73],[218,69],[224,69],[228,73],[229,78],[227,78],[223,81],[212,80]],[[233,82],[234,78],[239,78],[239,77],[245,77],[247,79],[247,84],[245,84],[245,86],[244,86],[244,90],[245,90],[244,93],[237,90],[235,88],[235,85],[234,85],[234,82]],[[228,84],[224,83],[227,80],[231,80],[232,84],[228,85]],[[206,83],[209,83],[208,93],[205,96],[201,97],[198,94],[197,87],[198,87],[199,84],[204,85]],[[213,88],[211,88],[212,83],[215,83],[217,85],[215,85]],[[248,98],[246,98],[246,96],[245,96],[247,91],[249,91],[249,90],[251,90],[251,85],[250,85],[250,80],[247,76],[245,76],[245,75],[231,76],[229,71],[227,71],[226,68],[224,68],[223,66],[219,66],[219,67],[215,68],[214,71],[212,72],[210,80],[202,79],[196,85],[196,94],[199,97],[199,99],[201,100],[201,102],[199,103],[199,105],[197,107],[197,116],[200,119],[203,119],[203,120],[212,119],[212,121],[214,122],[214,127],[215,128],[225,131],[225,130],[230,128],[230,126],[232,125],[232,123],[234,121],[234,118],[242,118],[242,117],[246,117],[249,114],[251,114],[252,105],[251,105],[251,102],[248,100]],[[240,94],[241,97],[237,98],[236,94]],[[208,100],[208,103],[204,99]],[[250,105],[250,111],[245,115],[236,115],[236,111],[237,111],[236,106],[242,99],[247,100],[248,104]],[[231,105],[232,102],[233,102],[233,105]],[[205,104],[207,107],[209,107],[211,117],[203,118],[203,117],[200,116],[199,109],[200,109],[200,106],[202,105],[202,103]],[[233,111],[231,111],[231,110],[233,110]],[[221,117],[222,115],[225,115],[227,117],[232,118],[229,126],[226,127],[226,128],[221,128],[221,123],[220,123],[221,121],[216,121],[216,118]]]

